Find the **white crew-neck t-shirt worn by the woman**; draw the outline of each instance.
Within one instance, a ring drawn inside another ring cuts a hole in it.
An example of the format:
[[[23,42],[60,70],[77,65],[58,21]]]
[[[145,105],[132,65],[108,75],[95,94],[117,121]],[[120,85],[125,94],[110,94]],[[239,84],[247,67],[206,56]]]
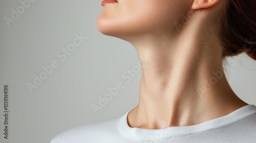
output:
[[[127,114],[131,110],[115,120],[59,133],[50,143],[256,142],[255,105],[246,105],[201,124],[157,130],[131,128],[127,124]]]

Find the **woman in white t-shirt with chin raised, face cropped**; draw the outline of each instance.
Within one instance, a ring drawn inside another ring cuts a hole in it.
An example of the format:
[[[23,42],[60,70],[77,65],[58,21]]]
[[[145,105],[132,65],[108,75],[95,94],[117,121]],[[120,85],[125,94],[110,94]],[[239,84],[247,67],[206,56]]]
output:
[[[103,1],[97,27],[132,43],[142,65],[138,105],[116,120],[56,136],[70,142],[256,142],[256,106],[223,61],[256,60],[255,0]]]

